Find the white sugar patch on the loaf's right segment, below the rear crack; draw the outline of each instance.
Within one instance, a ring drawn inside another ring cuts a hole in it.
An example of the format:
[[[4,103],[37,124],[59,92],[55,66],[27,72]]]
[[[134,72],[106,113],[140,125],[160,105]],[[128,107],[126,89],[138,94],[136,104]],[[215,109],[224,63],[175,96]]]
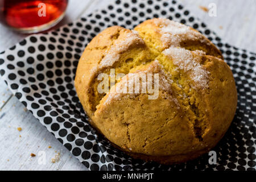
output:
[[[195,56],[193,56],[193,54]],[[189,51],[185,48],[170,47],[163,51],[163,54],[172,58],[174,65],[189,76],[195,82],[195,88],[207,88],[209,72],[197,61],[205,55],[204,51]]]

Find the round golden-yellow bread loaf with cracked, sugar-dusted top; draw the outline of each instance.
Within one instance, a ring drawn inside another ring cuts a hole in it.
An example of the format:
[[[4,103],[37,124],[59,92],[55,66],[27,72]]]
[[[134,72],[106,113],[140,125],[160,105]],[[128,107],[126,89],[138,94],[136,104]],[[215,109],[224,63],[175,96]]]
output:
[[[113,71],[122,73],[114,82]],[[101,73],[110,75],[103,93]],[[122,92],[132,80],[139,86]],[[113,26],[98,34],[80,58],[75,87],[91,125],[115,147],[163,164],[209,151],[237,106],[232,71],[221,52],[200,32],[163,18],[132,31]]]

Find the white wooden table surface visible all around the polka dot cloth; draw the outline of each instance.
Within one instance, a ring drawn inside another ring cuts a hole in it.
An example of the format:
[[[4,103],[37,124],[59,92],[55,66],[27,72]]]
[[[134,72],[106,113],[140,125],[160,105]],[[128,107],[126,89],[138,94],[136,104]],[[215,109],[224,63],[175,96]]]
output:
[[[112,0],[69,0],[67,14],[57,25],[100,9]],[[140,1],[140,0],[138,0]],[[170,0],[171,1],[171,0]],[[225,42],[256,52],[255,0],[180,0],[186,9],[203,20]],[[210,17],[199,6],[216,3],[217,16]],[[26,35],[17,34],[0,25],[0,52],[13,46]],[[43,127],[0,81],[0,170],[87,170],[72,154]],[[22,131],[17,128],[21,127]],[[48,148],[51,146],[52,148]],[[40,151],[46,152],[46,164],[38,163]],[[60,161],[51,163],[60,152]]]

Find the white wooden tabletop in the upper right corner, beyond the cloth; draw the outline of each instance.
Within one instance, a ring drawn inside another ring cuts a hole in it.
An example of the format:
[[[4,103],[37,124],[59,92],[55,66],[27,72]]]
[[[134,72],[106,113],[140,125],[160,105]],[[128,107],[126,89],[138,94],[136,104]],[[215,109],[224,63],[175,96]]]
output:
[[[210,30],[216,32],[224,42],[232,46],[256,52],[256,1],[229,0],[180,0],[186,9],[199,17]],[[209,14],[200,6],[215,3],[217,16]]]

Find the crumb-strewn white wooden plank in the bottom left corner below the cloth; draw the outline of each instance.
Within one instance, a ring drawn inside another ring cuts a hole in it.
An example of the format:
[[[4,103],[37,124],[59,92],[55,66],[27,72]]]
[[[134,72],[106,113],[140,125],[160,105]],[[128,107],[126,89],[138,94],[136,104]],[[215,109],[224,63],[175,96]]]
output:
[[[19,127],[21,131],[18,130]],[[15,97],[1,111],[0,133],[0,169],[86,169]],[[46,156],[45,163],[40,163],[42,152]],[[51,159],[59,152],[59,162],[52,163]],[[31,157],[31,153],[36,156]]]

